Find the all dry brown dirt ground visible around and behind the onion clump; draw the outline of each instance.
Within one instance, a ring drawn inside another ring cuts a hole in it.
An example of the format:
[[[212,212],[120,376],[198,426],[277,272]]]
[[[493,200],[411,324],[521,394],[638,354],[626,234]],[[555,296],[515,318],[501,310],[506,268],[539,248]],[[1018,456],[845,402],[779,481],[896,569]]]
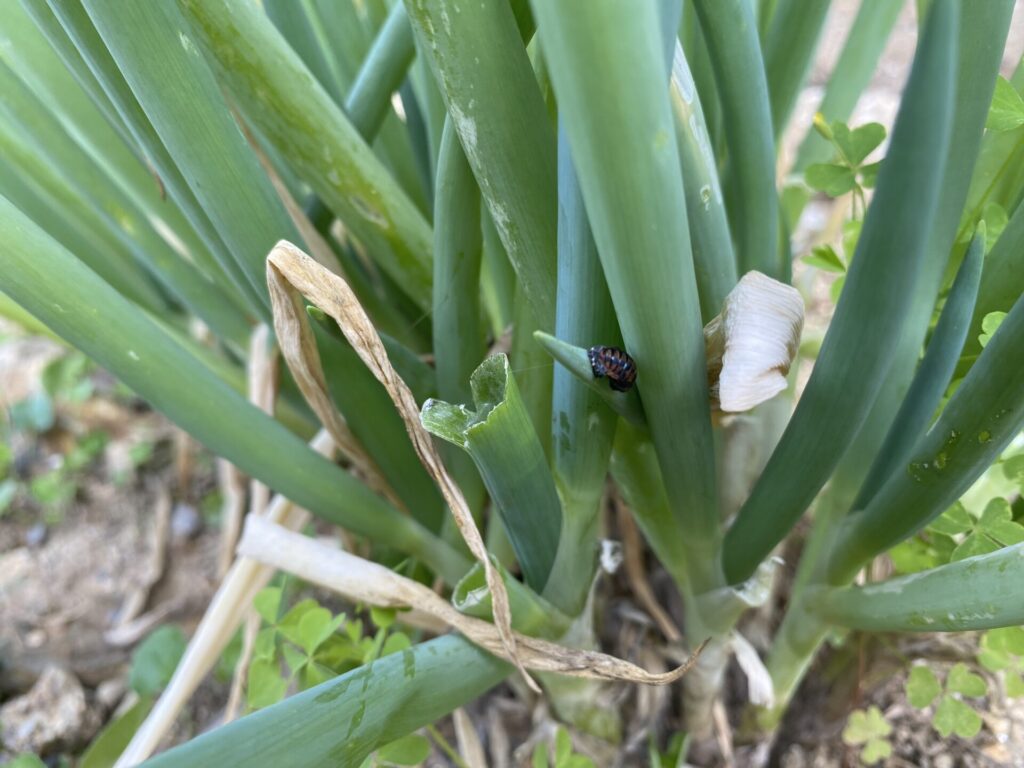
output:
[[[877,120],[891,125],[916,32],[910,5],[853,124]],[[844,1],[833,11],[795,125],[809,125],[856,6]],[[1018,2],[1005,72],[1012,70],[1022,49],[1024,2]],[[795,132],[784,146],[792,151],[798,139]],[[800,250],[806,252],[815,242],[828,215],[823,201],[808,207],[797,233]],[[808,332],[821,333],[830,309],[827,281],[820,275],[806,280],[812,297]],[[45,339],[0,341],[0,406],[31,393],[46,362],[59,354],[60,347]],[[216,485],[210,457],[181,439],[159,416],[102,391],[100,387],[101,394],[85,403],[60,409],[53,430],[15,446],[23,470],[31,474],[59,461],[69,435],[97,425],[111,434],[103,457],[80,477],[62,518],[44,525],[31,505],[0,517],[0,733],[9,748],[37,746],[51,760],[79,752],[123,700],[129,656],[137,641],[163,623],[188,632],[216,587],[218,530],[200,511]],[[127,480],[112,482],[112,476],[123,475],[126,453],[140,441],[156,444],[153,457]],[[655,570],[650,581],[670,615],[678,618],[677,598],[664,573]],[[648,668],[666,664],[657,652],[662,636],[630,596],[624,578],[608,580],[604,589],[605,647]],[[771,621],[761,616],[752,624],[764,627]],[[752,638],[757,637],[757,626],[750,630]],[[774,743],[743,743],[744,683],[730,671],[726,709],[737,743],[732,764],[858,765],[856,750],[844,744],[840,733],[852,709],[876,705],[894,726],[895,755],[889,765],[1024,766],[1024,710],[1012,699],[987,700],[985,728],[970,741],[939,739],[930,719],[905,700],[908,659],[949,664],[972,658],[975,647],[972,636],[850,638],[843,648],[817,660]],[[201,688],[176,738],[215,724],[226,696],[223,683],[211,681]],[[678,727],[678,701],[665,690],[616,689],[609,706],[631,714],[626,749],[616,761],[580,737],[578,746],[594,751],[598,765],[646,765],[647,738],[663,738]],[[531,743],[551,735],[545,707],[526,696],[521,686],[503,685],[467,709],[494,766],[525,764]],[[450,724],[442,731],[451,736]],[[712,757],[716,752],[714,743],[700,745],[693,759],[702,765],[724,764]],[[0,762],[5,757],[0,750]],[[439,755],[429,764],[450,765]]]

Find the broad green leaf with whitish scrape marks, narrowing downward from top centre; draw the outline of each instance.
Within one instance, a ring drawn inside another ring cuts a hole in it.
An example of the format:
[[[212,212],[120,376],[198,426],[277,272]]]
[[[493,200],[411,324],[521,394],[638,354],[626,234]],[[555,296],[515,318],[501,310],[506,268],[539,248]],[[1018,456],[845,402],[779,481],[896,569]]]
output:
[[[406,0],[420,50],[542,331],[555,325],[555,134],[506,2]]]

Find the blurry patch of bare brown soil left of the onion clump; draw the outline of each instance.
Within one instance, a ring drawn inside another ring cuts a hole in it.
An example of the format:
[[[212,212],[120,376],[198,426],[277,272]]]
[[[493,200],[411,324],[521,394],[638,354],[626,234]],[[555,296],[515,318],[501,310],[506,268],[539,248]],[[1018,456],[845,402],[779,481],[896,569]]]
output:
[[[0,328],[0,338],[9,330]],[[46,339],[0,341],[0,406],[38,391],[46,365],[63,353]],[[51,429],[35,439],[18,435],[12,446],[14,466],[29,479],[58,466],[77,436],[109,436],[102,456],[75,476],[67,508],[46,512],[23,494],[0,516],[0,736],[8,749],[33,745],[45,754],[88,743],[125,694],[132,648],[161,623],[190,631],[215,587],[215,528],[172,522],[177,535],[159,541],[155,531],[157,510],[172,495],[172,521],[189,517],[188,505],[212,485],[209,468],[178,490],[172,450],[180,433],[113,395],[102,372],[93,376],[93,397],[58,401]],[[156,445],[153,458],[113,481],[142,441]],[[153,573],[158,549],[165,562]],[[71,699],[49,694],[60,687],[73,691]],[[61,720],[69,712],[75,717]],[[30,715],[62,725],[25,732]]]

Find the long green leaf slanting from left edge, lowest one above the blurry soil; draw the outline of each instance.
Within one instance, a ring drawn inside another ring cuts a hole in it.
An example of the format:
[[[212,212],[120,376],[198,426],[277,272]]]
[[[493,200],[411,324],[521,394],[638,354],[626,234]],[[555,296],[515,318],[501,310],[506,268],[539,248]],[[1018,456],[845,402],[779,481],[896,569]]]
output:
[[[0,290],[213,453],[313,514],[421,557],[450,583],[469,567],[464,556],[231,390],[2,198],[0,231]]]

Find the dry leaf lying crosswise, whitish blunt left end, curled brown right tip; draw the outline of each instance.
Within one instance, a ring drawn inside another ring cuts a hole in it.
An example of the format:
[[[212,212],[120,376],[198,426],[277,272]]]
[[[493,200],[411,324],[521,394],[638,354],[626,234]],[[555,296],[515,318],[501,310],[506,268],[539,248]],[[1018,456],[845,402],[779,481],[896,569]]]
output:
[[[429,587],[379,563],[258,517],[247,521],[239,553],[334,590],[354,602],[387,608],[414,607],[440,618],[496,656],[513,660],[495,625],[460,613]],[[566,648],[518,633],[515,633],[515,640],[518,659],[526,669],[647,685],[666,685],[679,680],[694,665],[707,644],[707,641],[701,643],[681,667],[671,672],[650,673],[607,653]]]

